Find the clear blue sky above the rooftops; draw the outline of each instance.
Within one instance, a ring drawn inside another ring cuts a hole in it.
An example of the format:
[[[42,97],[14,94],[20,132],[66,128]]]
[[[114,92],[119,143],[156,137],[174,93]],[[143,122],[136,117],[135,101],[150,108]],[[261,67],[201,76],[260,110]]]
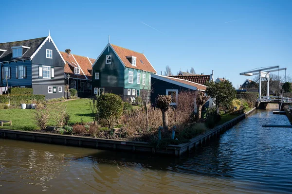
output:
[[[5,1],[0,42],[51,30],[60,51],[96,58],[110,35],[112,44],[144,50],[158,73],[166,65],[174,74],[214,70],[237,87],[240,72],[258,67],[292,75],[291,10],[291,0]]]

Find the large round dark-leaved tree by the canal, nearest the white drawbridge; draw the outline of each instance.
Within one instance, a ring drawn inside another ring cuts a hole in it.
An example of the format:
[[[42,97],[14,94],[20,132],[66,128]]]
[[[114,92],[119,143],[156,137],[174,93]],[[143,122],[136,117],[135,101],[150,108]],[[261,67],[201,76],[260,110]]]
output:
[[[236,98],[236,90],[232,86],[232,82],[225,80],[224,82],[207,82],[206,94],[213,98],[217,113],[219,113],[220,106],[229,106],[231,101]]]

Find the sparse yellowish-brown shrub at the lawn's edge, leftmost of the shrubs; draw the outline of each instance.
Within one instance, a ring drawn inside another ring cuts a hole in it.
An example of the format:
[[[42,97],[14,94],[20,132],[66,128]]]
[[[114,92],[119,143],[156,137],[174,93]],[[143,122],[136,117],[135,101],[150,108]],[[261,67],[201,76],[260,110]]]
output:
[[[48,126],[48,122],[53,111],[53,105],[47,106],[46,104],[38,104],[35,111],[35,120],[37,126],[44,130]]]

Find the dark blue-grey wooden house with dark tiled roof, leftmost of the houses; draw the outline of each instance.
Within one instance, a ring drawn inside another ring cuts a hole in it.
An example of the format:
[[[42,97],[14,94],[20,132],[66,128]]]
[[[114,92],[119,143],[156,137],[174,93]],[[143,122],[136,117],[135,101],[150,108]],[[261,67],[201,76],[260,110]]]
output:
[[[52,37],[0,43],[0,86],[33,88],[46,99],[64,96],[65,60]]]

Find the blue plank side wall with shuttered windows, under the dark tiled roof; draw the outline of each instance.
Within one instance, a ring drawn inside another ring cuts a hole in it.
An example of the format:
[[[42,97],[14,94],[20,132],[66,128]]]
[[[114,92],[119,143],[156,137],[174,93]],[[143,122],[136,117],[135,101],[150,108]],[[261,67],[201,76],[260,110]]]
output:
[[[25,86],[25,87],[31,87],[32,86],[32,68],[31,68],[31,61],[26,60],[26,61],[15,61],[15,62],[10,62],[10,63],[4,63],[3,67],[10,67],[11,72],[10,76],[11,79],[7,79],[8,81],[8,86]],[[17,79],[16,78],[16,67],[17,66],[26,66],[26,78],[23,79]],[[0,75],[2,68],[0,68]],[[6,86],[6,79],[2,80],[2,85]]]

